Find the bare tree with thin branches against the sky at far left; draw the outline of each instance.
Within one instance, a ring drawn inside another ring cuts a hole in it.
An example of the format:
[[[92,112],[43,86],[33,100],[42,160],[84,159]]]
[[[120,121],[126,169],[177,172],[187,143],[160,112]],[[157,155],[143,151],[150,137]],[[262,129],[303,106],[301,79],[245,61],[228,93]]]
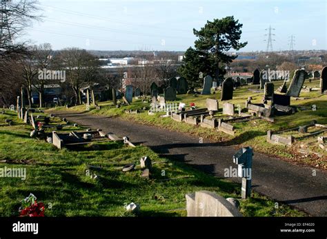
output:
[[[41,18],[34,14],[39,10],[37,3],[36,0],[0,1],[0,95],[3,103],[8,99],[14,101],[15,97],[10,94],[16,95],[21,87],[21,67],[15,61],[26,53],[26,43],[17,39],[32,20]]]

